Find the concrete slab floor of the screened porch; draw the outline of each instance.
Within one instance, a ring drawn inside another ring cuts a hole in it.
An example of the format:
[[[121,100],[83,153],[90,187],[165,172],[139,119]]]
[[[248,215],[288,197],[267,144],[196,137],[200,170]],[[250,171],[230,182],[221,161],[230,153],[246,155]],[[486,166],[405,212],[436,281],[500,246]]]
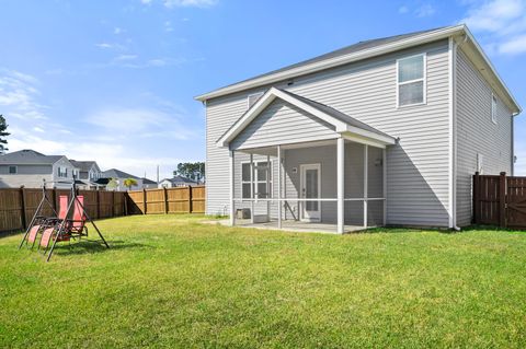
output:
[[[221,221],[209,221],[210,223],[217,223],[221,225],[229,225],[229,220]],[[208,223],[206,221],[205,223]],[[304,222],[304,221],[294,221],[294,220],[283,220],[282,229],[277,229],[277,221],[272,220],[266,223],[251,223],[250,219],[237,219],[236,226],[240,228],[253,228],[253,229],[264,229],[264,230],[282,230],[289,232],[318,232],[318,233],[329,233],[336,234],[336,224],[321,223],[321,222]],[[373,228],[373,226],[368,226]],[[344,232],[352,233],[356,231],[364,230],[362,225],[345,225]]]

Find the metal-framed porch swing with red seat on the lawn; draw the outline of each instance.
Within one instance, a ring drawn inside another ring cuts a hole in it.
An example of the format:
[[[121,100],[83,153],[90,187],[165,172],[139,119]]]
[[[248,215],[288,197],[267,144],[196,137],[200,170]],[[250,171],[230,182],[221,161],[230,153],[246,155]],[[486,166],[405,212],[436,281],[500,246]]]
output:
[[[60,183],[69,184],[70,182]],[[84,241],[98,242],[88,240],[87,222],[90,222],[93,225],[94,230],[99,234],[100,241],[102,241],[102,243],[110,248],[110,245],[105,241],[95,222],[93,222],[84,209],[84,197],[82,195],[78,195],[76,186],[77,181],[75,177],[70,184],[70,200],[68,201],[67,195],[60,195],[59,211],[57,213],[52,200],[48,197],[46,182],[44,181],[42,186],[41,202],[36,208],[35,214],[33,216],[27,230],[25,231],[19,249],[22,248],[24,244],[27,248],[33,249],[36,244],[37,251],[42,251],[44,256],[46,256],[46,260],[49,261],[53,252],[55,251],[55,246],[59,242],[68,242],[70,246],[71,240],[79,240],[80,242],[82,237],[84,237]],[[42,211],[46,206],[50,208],[54,216],[46,217],[42,214]]]

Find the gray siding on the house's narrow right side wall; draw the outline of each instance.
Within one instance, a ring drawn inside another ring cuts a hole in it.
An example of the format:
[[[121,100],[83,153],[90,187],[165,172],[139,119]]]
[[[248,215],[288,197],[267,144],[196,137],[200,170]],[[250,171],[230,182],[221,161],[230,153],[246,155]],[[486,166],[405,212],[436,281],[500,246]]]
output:
[[[512,113],[498,98],[496,125],[491,120],[492,89],[461,49],[456,56],[456,193],[457,225],[471,222],[472,175],[477,154],[483,174],[512,172]]]

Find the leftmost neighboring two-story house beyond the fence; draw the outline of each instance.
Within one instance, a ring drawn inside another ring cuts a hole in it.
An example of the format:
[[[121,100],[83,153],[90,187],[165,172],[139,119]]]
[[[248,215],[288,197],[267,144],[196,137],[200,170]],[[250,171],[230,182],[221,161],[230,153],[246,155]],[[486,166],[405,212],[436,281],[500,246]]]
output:
[[[0,155],[0,187],[69,188],[76,166],[64,155],[45,155],[34,150],[21,150]]]

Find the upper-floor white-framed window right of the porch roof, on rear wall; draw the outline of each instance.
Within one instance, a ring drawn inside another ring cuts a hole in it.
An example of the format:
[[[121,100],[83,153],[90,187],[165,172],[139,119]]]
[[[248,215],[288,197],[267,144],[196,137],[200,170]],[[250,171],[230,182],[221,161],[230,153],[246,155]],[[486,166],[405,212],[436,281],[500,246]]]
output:
[[[397,59],[397,107],[426,103],[426,55]]]

